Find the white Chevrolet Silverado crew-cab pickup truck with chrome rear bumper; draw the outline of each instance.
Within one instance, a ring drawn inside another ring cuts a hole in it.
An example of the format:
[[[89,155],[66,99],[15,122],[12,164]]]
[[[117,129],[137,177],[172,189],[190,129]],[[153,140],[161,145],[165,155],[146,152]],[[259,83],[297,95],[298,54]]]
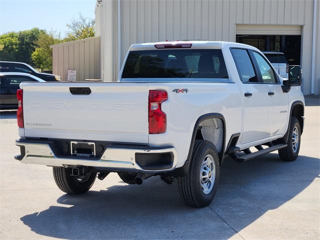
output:
[[[22,82],[23,163],[53,167],[57,186],[84,193],[117,172],[129,184],[177,178],[183,201],[208,205],[226,156],[299,152],[301,71],[280,77],[256,48],[223,41],[132,45],[118,82]],[[254,148],[254,149],[253,149]]]

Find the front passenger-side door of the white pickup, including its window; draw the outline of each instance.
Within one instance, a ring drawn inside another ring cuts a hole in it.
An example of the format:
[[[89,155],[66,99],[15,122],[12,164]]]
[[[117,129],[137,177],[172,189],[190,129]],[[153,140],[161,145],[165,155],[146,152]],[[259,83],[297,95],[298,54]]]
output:
[[[269,63],[256,51],[252,51],[258,65],[263,85],[268,88],[268,122],[267,127],[270,135],[282,134],[288,116],[288,93],[282,91],[281,83],[272,71]]]

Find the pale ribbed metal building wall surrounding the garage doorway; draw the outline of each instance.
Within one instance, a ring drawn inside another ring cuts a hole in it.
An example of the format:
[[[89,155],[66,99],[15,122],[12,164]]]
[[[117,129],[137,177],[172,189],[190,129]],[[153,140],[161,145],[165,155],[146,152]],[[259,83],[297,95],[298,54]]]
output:
[[[120,3],[121,62],[133,43],[165,39],[235,41],[236,24],[300,25],[303,92],[310,94],[313,0],[103,0],[104,5],[110,5],[110,2],[114,5],[108,8],[108,13],[104,13],[112,15],[108,17],[113,25],[111,28],[104,27],[101,34],[117,35],[116,7]],[[113,9],[112,13],[110,9]],[[319,15],[319,10],[317,14]],[[319,18],[317,23],[319,28]],[[318,32],[319,30],[317,34]],[[319,40],[314,49],[318,66],[315,87],[317,94],[320,93],[318,42]],[[104,40],[102,44],[107,44],[113,52],[113,60],[107,64],[116,65],[117,39],[112,44],[109,40]],[[117,67],[113,70],[117,71],[116,69]],[[116,80],[116,75],[115,72],[113,80]]]

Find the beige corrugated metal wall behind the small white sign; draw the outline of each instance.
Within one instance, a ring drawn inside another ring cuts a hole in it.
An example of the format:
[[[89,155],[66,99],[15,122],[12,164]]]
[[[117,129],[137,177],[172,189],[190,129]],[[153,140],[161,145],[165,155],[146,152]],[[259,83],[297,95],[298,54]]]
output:
[[[100,37],[84,38],[52,45],[53,74],[67,80],[68,70],[76,70],[76,81],[100,79]]]

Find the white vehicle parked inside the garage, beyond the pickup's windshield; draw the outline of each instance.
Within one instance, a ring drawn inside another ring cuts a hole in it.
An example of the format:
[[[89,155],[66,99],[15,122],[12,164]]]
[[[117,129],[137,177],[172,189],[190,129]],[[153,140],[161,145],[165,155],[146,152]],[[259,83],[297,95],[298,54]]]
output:
[[[274,67],[275,71],[282,77],[288,78],[289,63],[287,62],[283,52],[262,51]]]

